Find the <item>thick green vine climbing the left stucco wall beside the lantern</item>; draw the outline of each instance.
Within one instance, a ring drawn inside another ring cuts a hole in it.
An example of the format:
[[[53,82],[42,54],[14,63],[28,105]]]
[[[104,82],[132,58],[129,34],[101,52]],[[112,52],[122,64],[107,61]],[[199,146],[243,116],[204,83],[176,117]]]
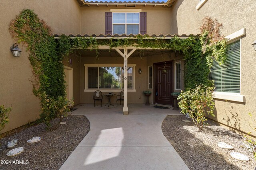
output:
[[[56,41],[51,28],[32,10],[22,10],[12,20],[10,33],[30,52],[33,92],[40,98],[43,92],[53,98],[65,96],[63,57],[56,51]]]

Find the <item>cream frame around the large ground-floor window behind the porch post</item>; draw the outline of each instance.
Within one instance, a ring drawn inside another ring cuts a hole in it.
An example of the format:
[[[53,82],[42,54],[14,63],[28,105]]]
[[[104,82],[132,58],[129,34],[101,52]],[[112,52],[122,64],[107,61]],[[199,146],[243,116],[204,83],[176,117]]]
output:
[[[120,92],[124,90],[123,88],[111,89],[111,88],[88,88],[88,67],[124,67],[124,64],[84,64],[84,92],[94,92],[95,90],[100,90],[101,92]],[[128,64],[128,67],[132,67],[132,89],[128,88],[128,92],[136,92],[135,89],[135,67],[136,64]],[[99,72],[98,72],[99,74]],[[99,81],[98,81],[99,82]]]

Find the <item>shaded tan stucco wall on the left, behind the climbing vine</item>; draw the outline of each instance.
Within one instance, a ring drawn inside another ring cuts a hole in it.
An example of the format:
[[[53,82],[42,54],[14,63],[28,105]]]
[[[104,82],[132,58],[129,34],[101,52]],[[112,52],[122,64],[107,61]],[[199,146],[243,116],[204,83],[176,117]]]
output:
[[[0,3],[0,105],[10,107],[10,122],[1,131],[9,131],[39,118],[40,104],[32,93],[29,52],[19,44],[21,56],[13,57],[10,46],[15,43],[8,31],[10,21],[22,9],[32,9],[52,27],[53,33],[80,33],[80,11],[76,0],[22,0]]]

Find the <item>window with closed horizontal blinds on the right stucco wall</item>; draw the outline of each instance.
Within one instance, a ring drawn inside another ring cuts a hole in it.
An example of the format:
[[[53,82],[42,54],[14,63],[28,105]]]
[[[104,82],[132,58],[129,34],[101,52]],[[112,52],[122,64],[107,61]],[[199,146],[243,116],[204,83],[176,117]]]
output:
[[[227,58],[220,66],[215,60],[209,75],[214,91],[240,93],[240,40],[229,45]]]

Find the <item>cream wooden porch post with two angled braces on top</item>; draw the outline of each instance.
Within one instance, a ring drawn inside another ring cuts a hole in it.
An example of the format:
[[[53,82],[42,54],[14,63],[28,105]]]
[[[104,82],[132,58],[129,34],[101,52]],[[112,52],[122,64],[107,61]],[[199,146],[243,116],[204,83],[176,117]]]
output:
[[[116,49],[116,51],[122,55],[122,57],[124,57],[124,107],[123,107],[123,114],[124,115],[128,115],[129,111],[128,111],[128,78],[127,78],[127,66],[128,66],[128,57],[130,57],[130,55],[132,55],[132,53],[135,51],[136,49],[132,49],[132,51],[130,51],[130,53],[128,54],[128,49],[124,48],[124,53],[122,53],[119,49]]]

